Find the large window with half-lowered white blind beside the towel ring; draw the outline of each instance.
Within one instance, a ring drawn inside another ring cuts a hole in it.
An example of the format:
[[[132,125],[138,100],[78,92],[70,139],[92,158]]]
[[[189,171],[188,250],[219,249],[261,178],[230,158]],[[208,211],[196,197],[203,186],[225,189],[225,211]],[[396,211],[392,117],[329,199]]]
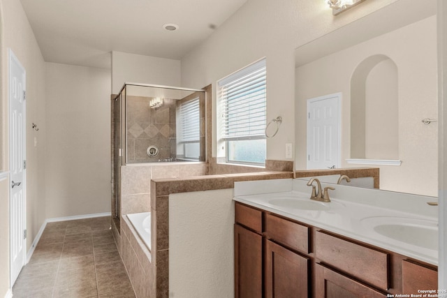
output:
[[[265,59],[218,82],[219,137],[227,163],[265,165]]]

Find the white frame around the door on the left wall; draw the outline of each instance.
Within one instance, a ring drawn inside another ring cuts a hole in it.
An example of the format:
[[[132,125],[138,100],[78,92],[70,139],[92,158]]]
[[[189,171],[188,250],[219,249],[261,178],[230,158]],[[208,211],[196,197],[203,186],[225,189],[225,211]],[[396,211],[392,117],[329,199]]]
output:
[[[20,68],[23,69],[24,72],[24,91],[26,91],[27,89],[27,70],[23,67],[23,65],[20,63],[20,60],[17,59],[17,57],[15,56],[14,52],[8,48],[8,83],[7,83],[7,88],[8,88],[8,142],[9,142],[9,150],[10,152],[13,150],[13,142],[11,142],[12,139],[12,125],[11,125],[11,121],[12,119],[10,119],[10,114],[11,114],[11,90],[10,90],[10,73],[11,73],[11,61],[15,60],[15,63],[17,63]],[[23,135],[23,140],[22,140],[22,144],[23,144],[23,161],[27,160],[27,100],[23,101],[23,119],[22,119],[22,135]],[[10,156],[10,154],[9,154]],[[12,159],[9,157],[9,164],[8,167],[11,169],[11,162]],[[11,177],[11,173],[9,174],[9,185],[11,185],[12,183],[12,177]],[[23,226],[26,229],[27,228],[27,169],[26,167],[24,167],[23,170],[23,180],[22,180],[22,187],[23,187],[23,200],[24,200],[24,209],[23,209],[23,213],[22,213],[22,218],[23,218]],[[13,199],[13,192],[9,191],[9,282],[10,282],[10,288],[13,288],[13,285],[15,283],[15,281],[13,281],[13,253],[12,253],[12,249],[11,246],[13,244],[13,241],[11,239],[11,235],[13,232],[13,221],[12,221],[12,209],[11,209],[11,202]],[[23,239],[23,260],[24,260],[24,264],[27,264],[27,238],[24,237]]]

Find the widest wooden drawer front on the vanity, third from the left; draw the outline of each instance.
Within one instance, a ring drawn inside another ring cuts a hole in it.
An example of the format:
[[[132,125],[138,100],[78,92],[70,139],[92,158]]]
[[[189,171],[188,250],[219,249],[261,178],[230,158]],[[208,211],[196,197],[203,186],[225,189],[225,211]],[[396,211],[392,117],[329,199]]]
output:
[[[316,232],[315,256],[354,278],[388,290],[388,253]]]

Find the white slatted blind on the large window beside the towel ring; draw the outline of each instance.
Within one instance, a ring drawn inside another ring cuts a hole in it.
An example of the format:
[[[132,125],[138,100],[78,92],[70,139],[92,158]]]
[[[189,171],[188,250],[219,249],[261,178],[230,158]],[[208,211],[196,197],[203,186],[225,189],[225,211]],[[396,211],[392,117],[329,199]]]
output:
[[[265,59],[219,81],[221,139],[265,138]]]

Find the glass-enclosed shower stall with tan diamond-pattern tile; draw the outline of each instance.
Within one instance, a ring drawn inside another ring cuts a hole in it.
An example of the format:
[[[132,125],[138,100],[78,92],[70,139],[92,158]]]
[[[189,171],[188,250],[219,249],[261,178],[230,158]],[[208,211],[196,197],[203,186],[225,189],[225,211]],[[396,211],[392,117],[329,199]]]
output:
[[[205,91],[126,83],[111,110],[112,211],[119,220],[123,166],[205,161]]]

